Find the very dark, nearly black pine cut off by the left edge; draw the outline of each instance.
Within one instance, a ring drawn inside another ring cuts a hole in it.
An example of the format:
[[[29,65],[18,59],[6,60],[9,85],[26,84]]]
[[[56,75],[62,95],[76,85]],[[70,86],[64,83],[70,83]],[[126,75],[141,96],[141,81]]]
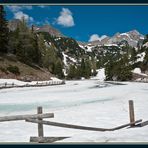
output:
[[[8,52],[8,27],[7,21],[5,19],[5,10],[4,6],[0,5],[0,52],[7,53]]]

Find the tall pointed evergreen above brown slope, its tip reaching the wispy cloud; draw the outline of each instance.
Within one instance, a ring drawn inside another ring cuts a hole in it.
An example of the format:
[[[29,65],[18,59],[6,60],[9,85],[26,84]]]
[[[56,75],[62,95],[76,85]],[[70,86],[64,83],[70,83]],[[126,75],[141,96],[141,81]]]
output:
[[[16,55],[19,60],[29,65],[39,64],[41,57],[37,35],[28,28],[24,17],[18,26]]]

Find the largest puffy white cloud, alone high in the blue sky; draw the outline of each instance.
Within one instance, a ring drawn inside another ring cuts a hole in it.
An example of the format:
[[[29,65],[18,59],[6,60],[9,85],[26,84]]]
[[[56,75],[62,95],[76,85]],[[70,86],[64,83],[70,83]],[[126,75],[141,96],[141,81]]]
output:
[[[57,24],[64,27],[72,27],[75,25],[74,19],[72,17],[72,12],[67,8],[62,8],[60,16],[56,19]]]

